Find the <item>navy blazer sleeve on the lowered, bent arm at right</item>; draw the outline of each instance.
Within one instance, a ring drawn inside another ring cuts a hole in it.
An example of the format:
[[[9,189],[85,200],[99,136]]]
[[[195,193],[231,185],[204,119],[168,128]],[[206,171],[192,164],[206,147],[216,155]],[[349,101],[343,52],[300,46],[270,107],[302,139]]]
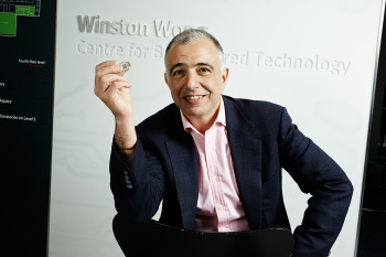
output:
[[[280,160],[304,193],[308,207],[294,232],[293,257],[328,256],[347,213],[353,186],[345,172],[281,111]]]

